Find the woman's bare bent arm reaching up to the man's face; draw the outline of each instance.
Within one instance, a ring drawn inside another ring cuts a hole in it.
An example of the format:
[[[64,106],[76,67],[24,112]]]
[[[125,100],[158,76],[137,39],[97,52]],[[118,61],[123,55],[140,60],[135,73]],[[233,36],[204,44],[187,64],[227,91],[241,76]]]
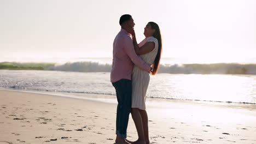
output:
[[[139,47],[137,40],[136,40],[136,35],[135,35],[135,33],[133,33],[133,34],[134,35],[132,35],[132,40],[133,40],[133,45],[134,45],[135,52],[137,55],[144,55],[154,49],[154,47],[155,47],[154,42],[148,42],[148,43],[144,44],[142,47]]]

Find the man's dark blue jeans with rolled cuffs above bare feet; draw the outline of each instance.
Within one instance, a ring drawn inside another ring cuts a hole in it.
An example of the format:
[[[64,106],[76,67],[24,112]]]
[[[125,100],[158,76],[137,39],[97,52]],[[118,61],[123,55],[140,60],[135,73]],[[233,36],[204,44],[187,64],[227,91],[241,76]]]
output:
[[[126,130],[129,121],[129,115],[131,112],[131,80],[121,79],[117,82],[112,83],[117,93],[117,121],[116,121],[116,132],[119,138],[126,138]]]

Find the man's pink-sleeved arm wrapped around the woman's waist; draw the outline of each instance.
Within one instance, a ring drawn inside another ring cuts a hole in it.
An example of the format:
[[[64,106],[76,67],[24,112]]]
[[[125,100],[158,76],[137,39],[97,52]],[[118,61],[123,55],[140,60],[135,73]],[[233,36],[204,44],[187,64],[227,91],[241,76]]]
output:
[[[141,57],[137,56],[134,50],[134,46],[132,43],[132,39],[129,37],[124,37],[123,38],[123,45],[124,45],[124,50],[127,53],[127,55],[131,58],[132,62],[137,65],[139,68],[145,70],[145,71],[150,71],[151,67],[144,62]]]

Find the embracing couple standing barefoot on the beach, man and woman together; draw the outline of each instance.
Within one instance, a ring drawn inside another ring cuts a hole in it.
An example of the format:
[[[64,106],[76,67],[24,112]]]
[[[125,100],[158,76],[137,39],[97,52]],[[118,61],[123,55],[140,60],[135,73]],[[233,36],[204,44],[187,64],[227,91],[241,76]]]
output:
[[[115,142],[149,144],[145,101],[150,73],[155,75],[159,68],[162,50],[160,29],[155,22],[147,23],[144,28],[146,38],[137,44],[132,16],[122,15],[119,24],[121,31],[114,39],[110,74],[118,100]],[[138,133],[135,142],[126,139],[130,113]]]

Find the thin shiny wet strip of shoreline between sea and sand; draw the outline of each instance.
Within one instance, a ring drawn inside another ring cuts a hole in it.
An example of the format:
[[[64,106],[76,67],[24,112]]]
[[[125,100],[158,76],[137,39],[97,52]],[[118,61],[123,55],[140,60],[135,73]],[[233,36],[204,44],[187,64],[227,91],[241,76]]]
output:
[[[25,93],[35,93],[35,94],[44,94],[57,97],[66,97],[72,99],[82,99],[82,100],[91,100],[98,101],[100,103],[109,103],[109,104],[118,104],[117,98],[115,95],[104,95],[104,94],[74,94],[74,93],[61,93],[61,92],[38,92],[38,91],[22,91],[18,89],[7,89],[1,88],[0,90],[4,91],[15,91],[15,92],[25,92]],[[173,105],[174,104],[174,105]],[[181,104],[181,105],[179,105]],[[220,106],[220,107],[234,107],[239,109],[246,109],[250,111],[256,111],[255,104],[240,104],[240,103],[218,103],[215,101],[195,101],[195,100],[179,100],[179,99],[155,99],[147,98],[146,105],[149,108],[156,109],[172,109],[174,106],[183,109],[185,105],[201,105],[201,106]],[[176,108],[175,108],[176,109]]]

